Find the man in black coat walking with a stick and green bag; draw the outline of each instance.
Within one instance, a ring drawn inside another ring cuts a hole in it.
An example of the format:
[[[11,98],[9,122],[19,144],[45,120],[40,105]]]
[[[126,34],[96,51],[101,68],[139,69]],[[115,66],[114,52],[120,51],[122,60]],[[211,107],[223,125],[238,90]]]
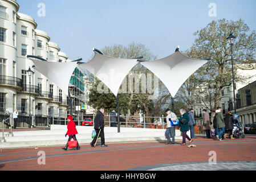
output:
[[[96,135],[94,139],[92,140],[91,147],[95,147],[94,144],[96,142],[97,137],[100,136],[101,140],[101,147],[107,147],[105,144],[105,137],[104,137],[104,109],[100,108],[100,111],[96,114],[94,118],[94,129],[96,131]]]

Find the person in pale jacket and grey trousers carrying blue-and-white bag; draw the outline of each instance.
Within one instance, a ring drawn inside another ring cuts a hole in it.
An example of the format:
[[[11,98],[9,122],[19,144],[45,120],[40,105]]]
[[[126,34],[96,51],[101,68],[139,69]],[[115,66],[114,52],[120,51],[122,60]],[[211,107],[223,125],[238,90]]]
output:
[[[167,142],[165,144],[174,144],[175,143],[175,126],[172,126],[170,121],[175,121],[177,119],[176,114],[174,114],[170,109],[166,109],[166,138]],[[172,142],[170,142],[170,136],[172,137]]]

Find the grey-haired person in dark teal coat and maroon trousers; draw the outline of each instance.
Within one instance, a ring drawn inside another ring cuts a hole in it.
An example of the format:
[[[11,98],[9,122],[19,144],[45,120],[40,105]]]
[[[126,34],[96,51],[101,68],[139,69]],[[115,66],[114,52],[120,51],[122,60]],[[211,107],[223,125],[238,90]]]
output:
[[[186,114],[185,109],[180,110],[181,117],[178,122],[178,129],[182,132],[182,146],[186,145],[186,139],[189,140],[189,144],[193,141],[193,139],[190,139],[189,136],[186,134],[186,132],[189,130],[189,115]]]

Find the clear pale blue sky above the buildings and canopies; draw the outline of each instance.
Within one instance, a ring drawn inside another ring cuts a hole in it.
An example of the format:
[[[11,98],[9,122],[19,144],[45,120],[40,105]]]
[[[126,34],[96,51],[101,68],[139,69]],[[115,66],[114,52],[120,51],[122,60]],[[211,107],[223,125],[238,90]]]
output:
[[[192,46],[193,32],[212,20],[238,20],[256,30],[256,1],[216,0],[17,0],[19,12],[32,16],[38,29],[46,31],[70,59],[90,60],[92,48],[136,42],[157,58],[172,54],[177,46]],[[46,5],[46,16],[38,16],[38,4]],[[216,15],[209,16],[215,3]]]

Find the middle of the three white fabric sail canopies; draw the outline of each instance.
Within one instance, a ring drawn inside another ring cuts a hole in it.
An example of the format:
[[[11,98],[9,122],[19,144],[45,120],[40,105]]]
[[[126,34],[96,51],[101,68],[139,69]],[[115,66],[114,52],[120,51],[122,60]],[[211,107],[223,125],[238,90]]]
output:
[[[95,53],[92,60],[81,66],[99,78],[117,96],[125,76],[136,64],[137,59],[118,59]]]

